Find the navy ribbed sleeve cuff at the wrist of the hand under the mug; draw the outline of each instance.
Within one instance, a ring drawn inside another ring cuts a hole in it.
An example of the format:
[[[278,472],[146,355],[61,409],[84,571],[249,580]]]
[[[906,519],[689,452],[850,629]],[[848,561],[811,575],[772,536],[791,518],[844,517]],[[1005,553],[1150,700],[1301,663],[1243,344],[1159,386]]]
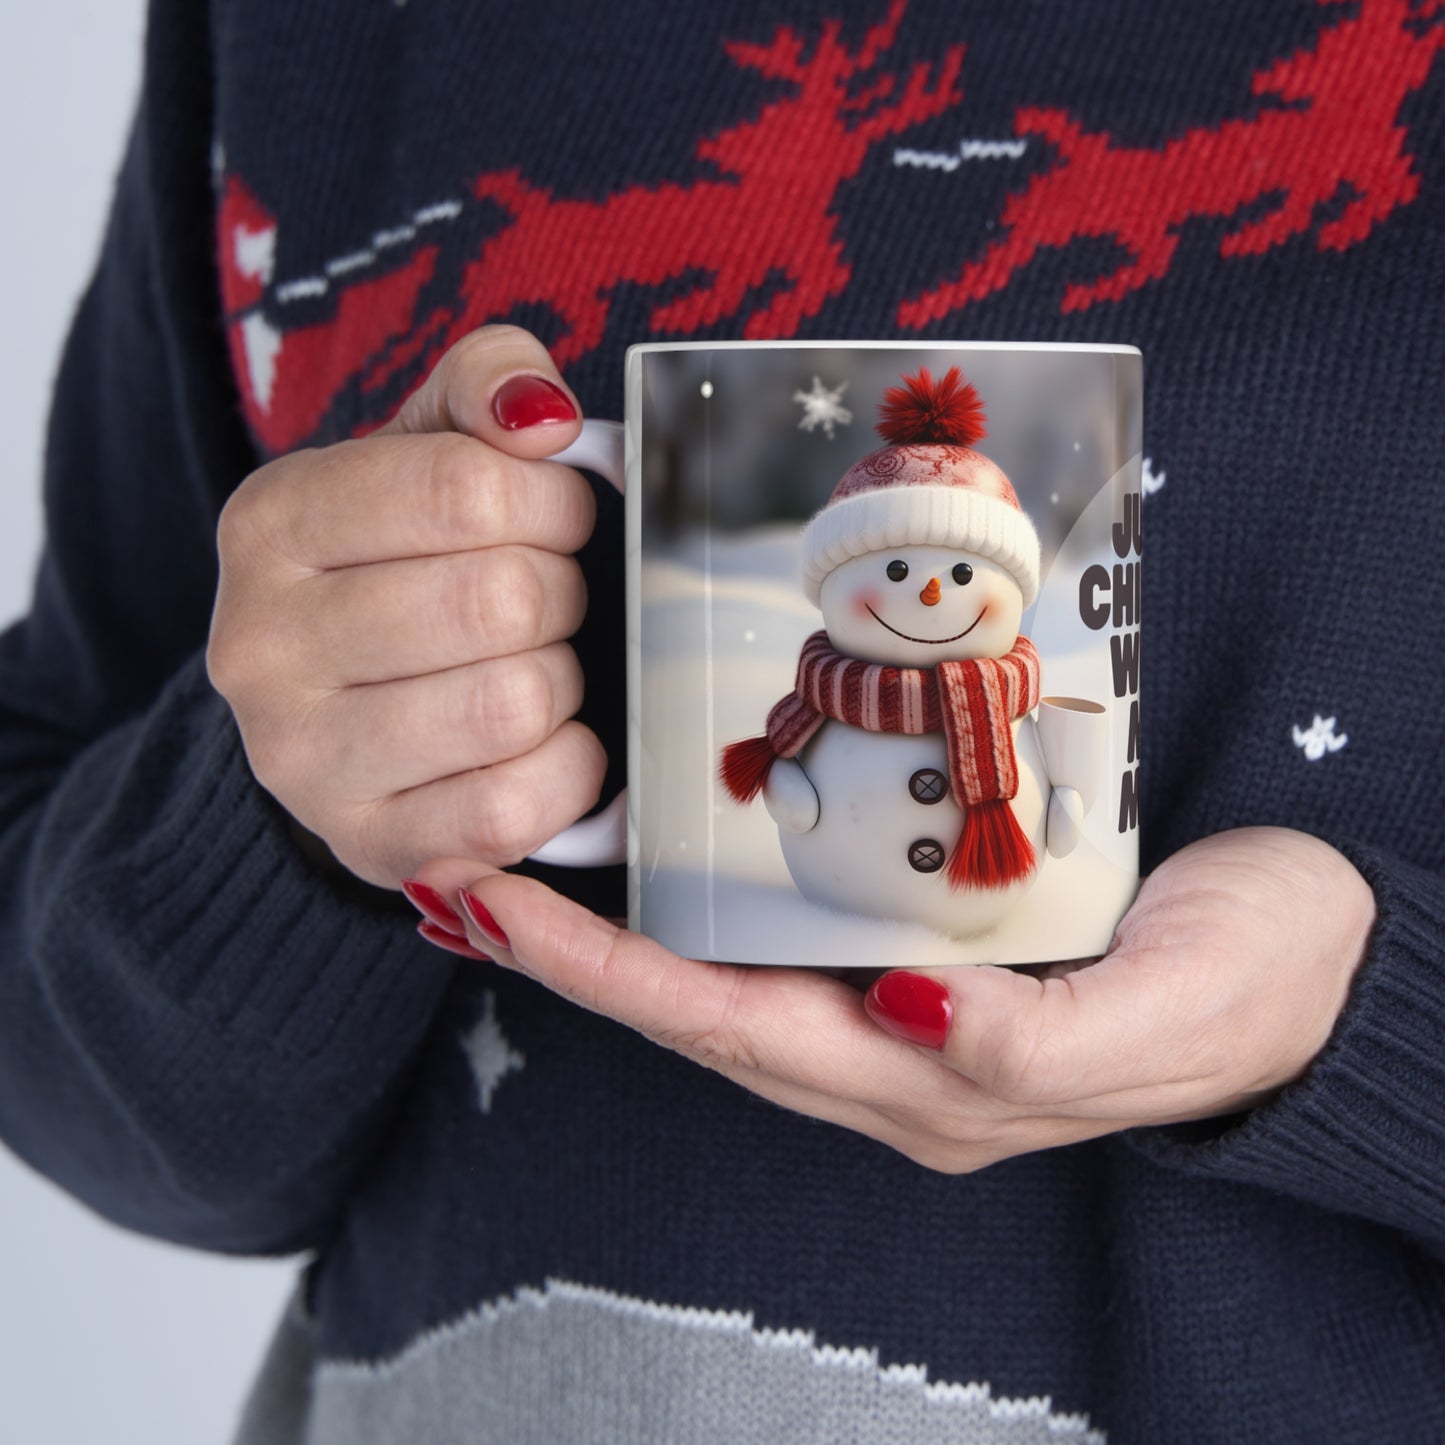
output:
[[[1445,880],[1373,848],[1341,851],[1377,919],[1311,1068],[1228,1127],[1131,1139],[1160,1163],[1363,1217],[1445,1256]]]

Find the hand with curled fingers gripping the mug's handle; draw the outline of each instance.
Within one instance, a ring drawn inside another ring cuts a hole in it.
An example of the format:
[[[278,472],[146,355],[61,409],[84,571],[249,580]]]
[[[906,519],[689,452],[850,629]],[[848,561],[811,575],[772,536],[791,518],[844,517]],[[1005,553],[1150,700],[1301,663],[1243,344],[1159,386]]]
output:
[[[565,642],[594,500],[540,460],[578,431],[542,344],[487,327],[381,431],[262,467],[221,514],[211,682],[262,786],[370,883],[516,863],[597,801]]]

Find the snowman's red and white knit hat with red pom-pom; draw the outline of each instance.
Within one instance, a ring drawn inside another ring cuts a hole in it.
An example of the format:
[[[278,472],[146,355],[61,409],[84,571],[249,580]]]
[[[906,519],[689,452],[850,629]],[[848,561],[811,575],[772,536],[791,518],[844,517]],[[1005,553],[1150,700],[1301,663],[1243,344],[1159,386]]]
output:
[[[1003,471],[974,442],[984,438],[978,393],[949,367],[928,367],[889,387],[879,409],[889,444],[848,468],[803,529],[803,591],[816,607],[840,564],[897,546],[952,546],[1006,568],[1027,607],[1039,591],[1039,538]]]

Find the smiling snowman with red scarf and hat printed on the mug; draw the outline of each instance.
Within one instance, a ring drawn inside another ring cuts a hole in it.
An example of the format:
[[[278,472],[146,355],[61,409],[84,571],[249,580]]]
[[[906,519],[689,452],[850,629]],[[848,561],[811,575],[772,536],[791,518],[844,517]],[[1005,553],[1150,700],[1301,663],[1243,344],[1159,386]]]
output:
[[[822,631],[766,736],[721,766],[737,802],[762,795],[803,897],[955,938],[1003,919],[1084,816],[1081,789],[1045,767],[1039,655],[1019,633],[1039,539],[974,449],[983,422],[957,367],[886,393],[887,445],[803,532]]]

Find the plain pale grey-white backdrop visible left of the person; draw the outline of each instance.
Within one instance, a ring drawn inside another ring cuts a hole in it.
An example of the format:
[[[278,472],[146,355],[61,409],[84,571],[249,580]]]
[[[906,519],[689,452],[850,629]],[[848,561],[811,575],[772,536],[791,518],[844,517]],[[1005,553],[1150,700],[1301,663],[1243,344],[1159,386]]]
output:
[[[0,46],[0,626],[29,597],[45,412],[139,87],[143,9],[14,6]],[[124,1234],[0,1149],[0,1441],[224,1445],[293,1273]]]

